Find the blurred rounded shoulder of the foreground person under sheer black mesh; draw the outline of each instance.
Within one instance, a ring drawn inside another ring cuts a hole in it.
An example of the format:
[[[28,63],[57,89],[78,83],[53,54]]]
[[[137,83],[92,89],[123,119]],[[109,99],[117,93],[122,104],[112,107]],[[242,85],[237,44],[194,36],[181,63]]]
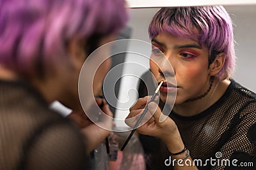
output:
[[[86,160],[81,134],[63,118],[40,124],[25,146],[28,169],[81,169]]]

